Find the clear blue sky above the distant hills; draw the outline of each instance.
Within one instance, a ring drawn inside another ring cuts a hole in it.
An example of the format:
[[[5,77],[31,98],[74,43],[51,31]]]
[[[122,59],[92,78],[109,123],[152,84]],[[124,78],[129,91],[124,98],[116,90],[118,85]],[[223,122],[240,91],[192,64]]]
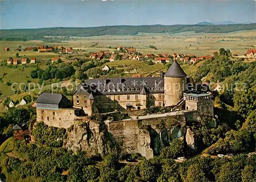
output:
[[[0,29],[256,22],[256,0],[0,0]]]

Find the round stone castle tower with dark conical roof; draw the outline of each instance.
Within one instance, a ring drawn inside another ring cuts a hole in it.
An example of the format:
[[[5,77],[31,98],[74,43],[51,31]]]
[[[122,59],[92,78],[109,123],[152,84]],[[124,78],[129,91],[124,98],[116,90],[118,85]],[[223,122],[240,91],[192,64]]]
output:
[[[169,67],[164,75],[164,103],[165,106],[174,106],[183,98],[186,88],[186,74],[177,61]]]

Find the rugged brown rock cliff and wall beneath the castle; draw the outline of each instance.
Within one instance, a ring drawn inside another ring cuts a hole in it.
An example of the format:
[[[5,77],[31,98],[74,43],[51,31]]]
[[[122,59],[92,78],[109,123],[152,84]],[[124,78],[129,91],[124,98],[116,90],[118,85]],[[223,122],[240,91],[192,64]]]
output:
[[[68,129],[63,146],[73,151],[87,151],[91,156],[120,150],[152,158],[175,138],[187,137],[188,144],[194,145],[194,136],[186,130],[185,120],[186,117],[180,115],[105,123],[87,121]]]

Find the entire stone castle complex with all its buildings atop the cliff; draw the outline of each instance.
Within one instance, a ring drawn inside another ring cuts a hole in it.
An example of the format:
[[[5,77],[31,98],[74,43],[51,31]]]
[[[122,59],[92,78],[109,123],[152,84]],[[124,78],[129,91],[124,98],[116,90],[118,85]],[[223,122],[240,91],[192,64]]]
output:
[[[188,82],[177,61],[160,77],[88,79],[75,90],[72,107],[63,95],[41,94],[37,100],[37,121],[63,123],[95,112],[140,110],[151,106],[173,109],[179,106],[183,110],[213,115],[211,94],[188,92]]]

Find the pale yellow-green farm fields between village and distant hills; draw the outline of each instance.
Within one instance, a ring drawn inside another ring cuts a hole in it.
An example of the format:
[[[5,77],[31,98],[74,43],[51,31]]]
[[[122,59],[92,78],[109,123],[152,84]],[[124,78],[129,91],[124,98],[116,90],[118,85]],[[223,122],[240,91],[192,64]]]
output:
[[[124,47],[134,47],[142,54],[147,53],[184,53],[195,54],[196,56],[211,55],[220,48],[229,49],[232,54],[242,55],[246,49],[253,49],[256,46],[256,31],[238,31],[225,34],[214,33],[139,33],[137,35],[117,36],[104,35],[92,37],[70,37],[69,41],[62,43],[47,43],[42,41],[0,41],[0,59],[15,57],[16,52],[4,52],[5,47],[10,50],[16,49],[22,45],[22,49],[37,45],[62,45],[63,47],[72,47],[81,49],[81,55],[86,52],[98,52],[102,50],[113,51],[118,45]],[[152,49],[153,45],[157,50]],[[111,48],[110,48],[111,47]],[[37,57],[38,59],[47,59],[56,56],[54,53],[37,53],[33,51],[20,52],[20,55],[27,57]]]

